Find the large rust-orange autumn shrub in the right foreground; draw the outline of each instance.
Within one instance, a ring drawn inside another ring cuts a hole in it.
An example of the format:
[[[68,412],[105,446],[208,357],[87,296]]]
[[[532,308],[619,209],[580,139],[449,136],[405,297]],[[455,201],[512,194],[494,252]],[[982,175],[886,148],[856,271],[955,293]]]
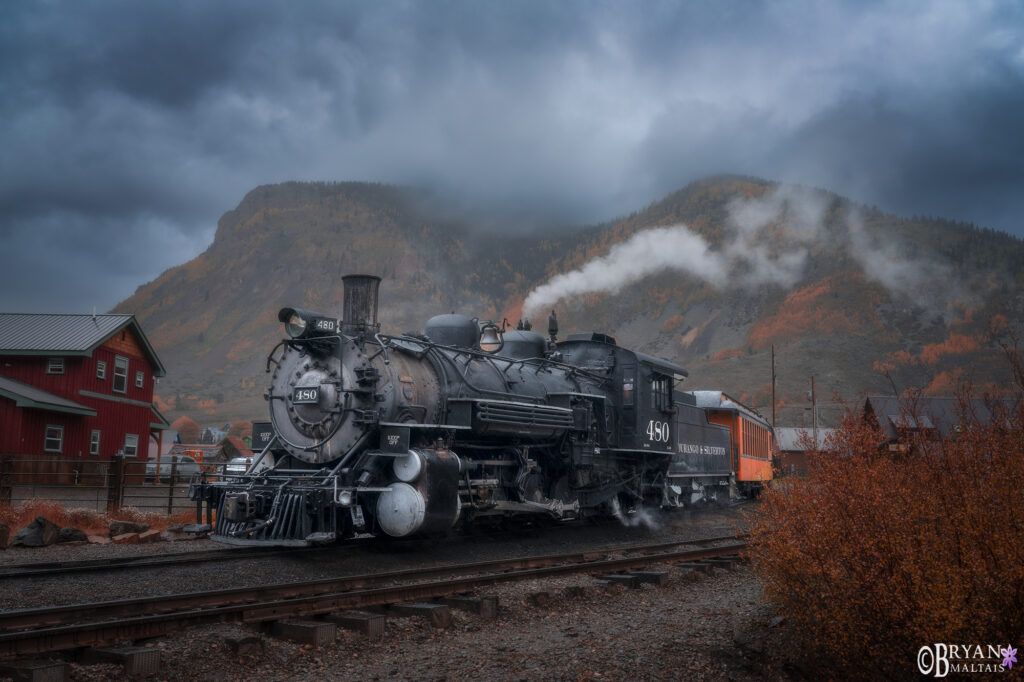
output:
[[[1024,408],[972,404],[950,437],[893,443],[850,414],[806,480],[765,493],[754,565],[818,672],[909,679],[924,645],[1024,640]]]

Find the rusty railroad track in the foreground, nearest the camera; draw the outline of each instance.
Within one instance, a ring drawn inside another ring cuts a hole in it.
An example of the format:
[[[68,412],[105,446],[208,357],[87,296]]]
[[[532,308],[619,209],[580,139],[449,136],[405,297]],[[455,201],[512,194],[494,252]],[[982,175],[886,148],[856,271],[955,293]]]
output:
[[[98,646],[111,642],[166,635],[184,627],[220,623],[259,623],[311,616],[473,592],[499,583],[629,570],[652,563],[712,559],[740,553],[745,543],[681,549],[693,543],[658,543],[600,552],[572,552],[0,612],[0,659]],[[710,543],[712,540],[702,541]],[[631,554],[615,556],[608,554]],[[605,558],[600,558],[604,555]]]

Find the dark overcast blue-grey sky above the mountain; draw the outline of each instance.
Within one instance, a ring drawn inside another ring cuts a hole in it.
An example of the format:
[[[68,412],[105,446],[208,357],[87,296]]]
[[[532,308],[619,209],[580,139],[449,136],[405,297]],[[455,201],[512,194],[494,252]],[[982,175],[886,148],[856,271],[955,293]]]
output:
[[[256,185],[592,222],[741,173],[1024,236],[1020,2],[0,4],[0,310],[110,309]]]

